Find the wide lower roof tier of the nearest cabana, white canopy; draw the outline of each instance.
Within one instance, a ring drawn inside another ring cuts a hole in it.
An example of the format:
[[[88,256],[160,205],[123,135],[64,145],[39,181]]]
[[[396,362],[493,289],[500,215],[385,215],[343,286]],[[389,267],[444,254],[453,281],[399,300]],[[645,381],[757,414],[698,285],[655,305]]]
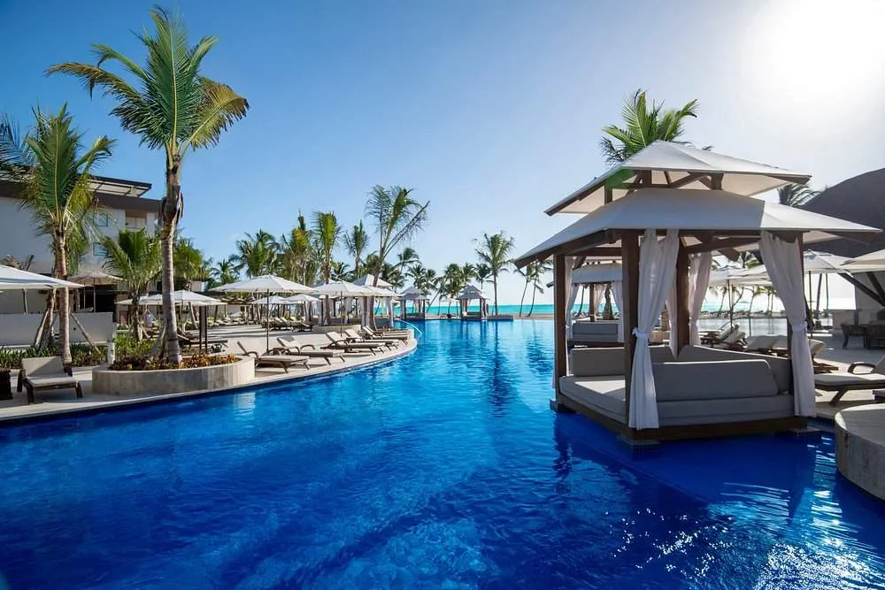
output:
[[[646,229],[709,231],[713,234],[717,231],[743,231],[748,234],[763,230],[798,232],[804,234],[804,243],[852,234],[862,239],[864,234],[881,231],[875,227],[861,226],[844,219],[723,190],[643,188],[578,219],[571,226],[518,257],[515,263],[522,266],[532,260],[546,259],[558,249],[577,248],[578,242],[588,241],[589,236],[600,238],[602,243],[607,230]],[[692,245],[698,241],[686,237],[685,243]]]

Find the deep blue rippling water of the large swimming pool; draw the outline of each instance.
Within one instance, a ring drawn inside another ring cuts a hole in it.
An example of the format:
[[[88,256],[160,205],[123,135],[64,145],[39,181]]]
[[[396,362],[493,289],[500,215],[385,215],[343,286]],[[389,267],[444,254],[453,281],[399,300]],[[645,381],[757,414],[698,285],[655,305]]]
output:
[[[885,510],[829,437],[630,456],[548,410],[551,339],[428,322],[372,369],[0,429],[0,571],[13,590],[885,587]]]

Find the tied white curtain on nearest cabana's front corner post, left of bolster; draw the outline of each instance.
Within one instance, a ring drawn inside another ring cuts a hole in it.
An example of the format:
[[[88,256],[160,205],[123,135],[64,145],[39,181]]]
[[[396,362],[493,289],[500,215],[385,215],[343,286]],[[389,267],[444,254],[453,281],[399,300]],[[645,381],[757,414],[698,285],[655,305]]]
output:
[[[666,238],[661,241],[658,241],[655,230],[645,230],[643,244],[639,249],[639,318],[633,329],[636,349],[633,353],[630,381],[631,428],[658,428],[658,395],[651,370],[649,333],[655,326],[673,285],[678,253],[678,230],[668,230]]]

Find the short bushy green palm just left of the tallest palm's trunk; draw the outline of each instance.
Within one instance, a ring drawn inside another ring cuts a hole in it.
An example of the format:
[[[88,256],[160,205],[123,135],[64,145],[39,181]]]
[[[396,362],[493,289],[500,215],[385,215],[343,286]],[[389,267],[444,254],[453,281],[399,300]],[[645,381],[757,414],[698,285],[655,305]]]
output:
[[[104,236],[104,270],[126,282],[129,305],[129,324],[135,327],[135,338],[140,339],[138,323],[138,300],[147,295],[162,269],[160,242],[144,228],[130,232],[121,231],[116,238]]]

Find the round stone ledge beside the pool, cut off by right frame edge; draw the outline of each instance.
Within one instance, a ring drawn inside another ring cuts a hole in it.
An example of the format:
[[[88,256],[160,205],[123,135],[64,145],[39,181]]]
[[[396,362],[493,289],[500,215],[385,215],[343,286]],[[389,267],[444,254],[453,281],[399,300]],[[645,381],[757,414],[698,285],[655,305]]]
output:
[[[835,464],[845,479],[885,500],[885,404],[836,414]]]

